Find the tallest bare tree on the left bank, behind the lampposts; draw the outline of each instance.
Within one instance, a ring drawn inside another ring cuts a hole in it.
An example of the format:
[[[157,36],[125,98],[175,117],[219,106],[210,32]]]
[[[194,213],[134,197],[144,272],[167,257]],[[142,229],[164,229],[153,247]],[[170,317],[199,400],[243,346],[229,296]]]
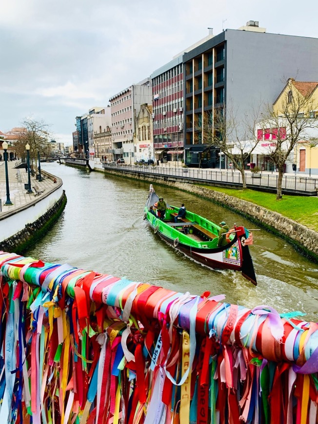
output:
[[[22,125],[25,132],[21,133],[19,140],[15,143],[16,152],[20,157],[25,157],[25,146],[29,144],[31,164],[35,160],[37,167],[38,152],[42,157],[47,157],[51,153],[49,126],[44,121],[37,121],[33,118],[25,118]]]

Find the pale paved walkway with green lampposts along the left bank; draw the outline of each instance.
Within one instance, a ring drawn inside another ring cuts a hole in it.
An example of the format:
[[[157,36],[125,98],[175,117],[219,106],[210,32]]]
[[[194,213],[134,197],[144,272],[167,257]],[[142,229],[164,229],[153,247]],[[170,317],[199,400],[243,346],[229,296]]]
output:
[[[4,205],[7,199],[5,186],[5,167],[4,161],[0,162],[0,217],[6,212],[13,212],[16,209],[19,209],[21,206],[25,206],[35,199],[40,198],[41,196],[45,195],[45,192],[50,191],[53,187],[56,186],[56,184],[50,178],[45,177],[43,181],[39,182],[36,180],[35,176],[31,176],[31,188],[38,186],[40,190],[45,190],[45,192],[36,197],[34,193],[26,193],[24,184],[28,182],[28,173],[25,172],[24,168],[15,169],[15,164],[16,162],[8,162],[10,200],[13,205],[6,206]]]

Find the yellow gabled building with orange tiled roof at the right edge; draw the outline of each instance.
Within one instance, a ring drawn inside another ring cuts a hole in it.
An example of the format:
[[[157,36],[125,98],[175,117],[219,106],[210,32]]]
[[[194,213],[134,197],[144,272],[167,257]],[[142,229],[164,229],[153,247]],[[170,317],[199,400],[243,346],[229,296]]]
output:
[[[308,99],[299,118],[317,119],[317,128],[308,128],[303,140],[294,149],[294,163],[299,173],[318,175],[318,82],[296,81],[290,78],[273,105],[274,114],[286,111],[293,99]],[[310,106],[310,107],[309,107]],[[285,113],[283,113],[286,116]]]

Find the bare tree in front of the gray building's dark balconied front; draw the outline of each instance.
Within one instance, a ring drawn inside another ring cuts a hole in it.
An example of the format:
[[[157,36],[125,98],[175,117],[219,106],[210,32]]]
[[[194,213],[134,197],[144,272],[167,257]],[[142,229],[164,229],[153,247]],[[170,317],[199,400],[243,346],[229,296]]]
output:
[[[219,147],[239,170],[242,176],[243,189],[246,188],[244,163],[250,158],[258,145],[255,127],[261,116],[261,103],[258,107],[251,106],[249,113],[237,117],[231,103],[225,108],[215,108],[214,113],[206,112],[203,122],[195,123],[196,131],[202,132],[202,142],[207,146]],[[220,158],[221,160],[221,158]]]

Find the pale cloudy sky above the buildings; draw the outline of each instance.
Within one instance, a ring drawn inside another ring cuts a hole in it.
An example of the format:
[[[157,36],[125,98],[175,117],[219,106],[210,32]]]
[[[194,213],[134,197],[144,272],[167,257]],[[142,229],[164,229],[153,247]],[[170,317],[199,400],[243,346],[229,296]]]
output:
[[[75,116],[222,27],[318,37],[317,1],[1,0],[0,131],[33,116],[71,143]],[[312,13],[311,13],[312,12]]]

